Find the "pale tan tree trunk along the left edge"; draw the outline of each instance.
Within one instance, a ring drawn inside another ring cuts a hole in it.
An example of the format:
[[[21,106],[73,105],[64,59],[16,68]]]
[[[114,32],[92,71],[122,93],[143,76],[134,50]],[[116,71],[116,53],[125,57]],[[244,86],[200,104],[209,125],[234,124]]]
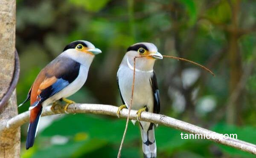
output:
[[[15,0],[0,0],[0,99],[9,89],[15,66]],[[16,91],[0,112],[0,124],[17,115]],[[0,158],[20,157],[20,128],[0,135]]]

